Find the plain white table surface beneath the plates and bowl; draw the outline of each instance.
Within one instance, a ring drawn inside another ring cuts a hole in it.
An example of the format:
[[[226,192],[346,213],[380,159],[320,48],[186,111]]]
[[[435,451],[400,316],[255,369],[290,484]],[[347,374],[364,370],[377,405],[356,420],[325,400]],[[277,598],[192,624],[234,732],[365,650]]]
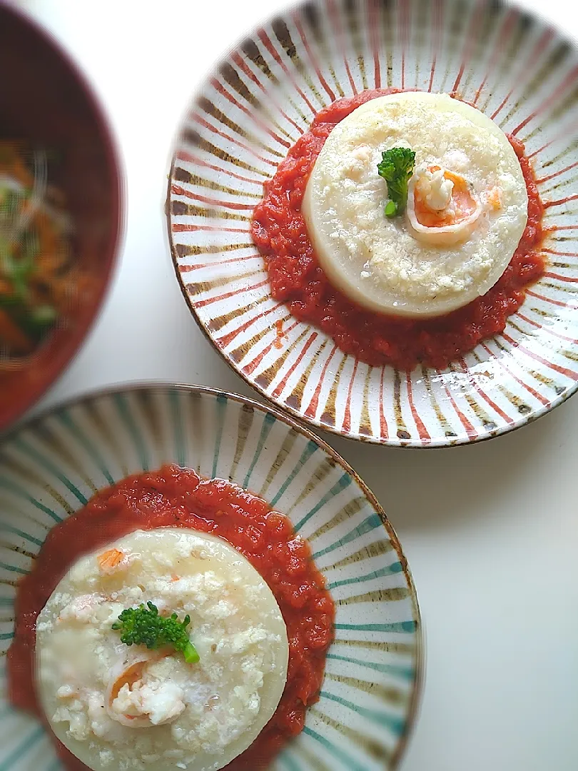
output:
[[[183,302],[163,217],[176,126],[207,69],[280,0],[22,0],[108,110],[126,231],[99,322],[40,407],[158,379],[258,398]],[[526,0],[578,36],[567,0]],[[411,451],[324,436],[376,493],[426,629],[422,707],[402,771],[578,768],[578,396],[477,446]]]

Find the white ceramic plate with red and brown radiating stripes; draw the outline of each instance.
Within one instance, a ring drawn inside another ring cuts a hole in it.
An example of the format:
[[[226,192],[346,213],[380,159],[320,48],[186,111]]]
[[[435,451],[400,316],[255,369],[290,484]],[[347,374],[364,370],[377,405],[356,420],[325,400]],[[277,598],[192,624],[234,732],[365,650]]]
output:
[[[499,2],[319,0],[257,29],[204,83],[170,177],[173,260],[203,332],[267,399],[353,439],[468,443],[563,402],[578,383],[577,78],[565,39]],[[474,103],[526,143],[546,201],[546,274],[502,335],[444,371],[342,353],[271,299],[251,242],[263,183],[314,114],[378,86]]]

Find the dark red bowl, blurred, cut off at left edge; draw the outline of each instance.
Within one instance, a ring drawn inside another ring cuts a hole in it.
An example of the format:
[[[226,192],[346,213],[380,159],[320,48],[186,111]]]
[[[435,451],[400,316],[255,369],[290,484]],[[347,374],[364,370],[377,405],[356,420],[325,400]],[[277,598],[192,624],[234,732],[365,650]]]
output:
[[[0,2],[0,136],[61,153],[54,181],[72,216],[74,259],[89,289],[34,354],[0,370],[0,431],[49,388],[94,322],[113,271],[122,224],[121,177],[92,89],[52,37]]]

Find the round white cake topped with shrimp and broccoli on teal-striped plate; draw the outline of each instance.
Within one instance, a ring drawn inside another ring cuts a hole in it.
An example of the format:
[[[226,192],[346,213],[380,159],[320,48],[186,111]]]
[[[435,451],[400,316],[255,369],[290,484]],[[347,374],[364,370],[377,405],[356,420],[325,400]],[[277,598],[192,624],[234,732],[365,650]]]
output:
[[[288,651],[257,570],[220,537],[181,527],[81,557],[36,625],[42,709],[95,771],[226,766],[274,715]]]

